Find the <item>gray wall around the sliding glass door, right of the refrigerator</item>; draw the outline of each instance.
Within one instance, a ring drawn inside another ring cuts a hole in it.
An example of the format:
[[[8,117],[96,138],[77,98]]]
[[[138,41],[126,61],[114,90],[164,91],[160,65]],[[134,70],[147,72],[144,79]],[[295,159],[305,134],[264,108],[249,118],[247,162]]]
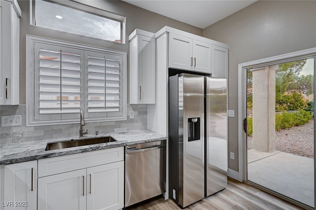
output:
[[[316,1],[259,0],[205,28],[203,37],[229,45],[229,168],[238,171],[238,64],[316,47]]]

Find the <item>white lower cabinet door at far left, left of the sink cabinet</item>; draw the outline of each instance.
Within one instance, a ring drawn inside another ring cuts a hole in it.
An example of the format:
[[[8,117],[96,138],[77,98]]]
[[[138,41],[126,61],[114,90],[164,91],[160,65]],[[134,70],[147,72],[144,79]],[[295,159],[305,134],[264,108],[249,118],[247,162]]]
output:
[[[4,166],[4,202],[4,210],[37,209],[37,161]]]

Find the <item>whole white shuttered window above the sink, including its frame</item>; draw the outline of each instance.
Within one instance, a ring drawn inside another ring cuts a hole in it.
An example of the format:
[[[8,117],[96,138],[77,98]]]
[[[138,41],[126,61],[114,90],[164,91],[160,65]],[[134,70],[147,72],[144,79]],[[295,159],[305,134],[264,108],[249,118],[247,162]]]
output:
[[[27,35],[27,126],[126,119],[126,52]]]

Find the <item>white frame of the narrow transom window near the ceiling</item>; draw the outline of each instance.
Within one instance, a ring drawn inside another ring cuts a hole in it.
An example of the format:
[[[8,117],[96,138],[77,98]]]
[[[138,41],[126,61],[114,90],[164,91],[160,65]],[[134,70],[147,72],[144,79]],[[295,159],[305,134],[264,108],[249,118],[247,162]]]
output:
[[[121,42],[115,42],[115,41],[110,41],[110,40],[104,40],[104,39],[100,39],[100,38],[95,38],[95,37],[90,37],[90,36],[84,36],[84,35],[80,35],[80,34],[76,34],[76,33],[71,33],[71,32],[67,32],[67,31],[60,31],[60,30],[56,30],[56,29],[51,29],[51,28],[46,28],[46,27],[42,27],[42,26],[37,26],[35,25],[35,1],[36,0],[30,0],[30,25],[36,26],[36,27],[40,27],[40,28],[45,28],[45,29],[49,29],[49,30],[53,30],[53,31],[59,31],[59,32],[63,32],[63,33],[67,33],[67,34],[73,34],[73,35],[77,35],[77,36],[82,36],[82,37],[88,37],[88,38],[92,38],[92,39],[98,39],[98,40],[102,40],[102,41],[106,41],[106,42],[113,42],[113,43],[118,43],[118,44],[126,44],[125,40],[126,40],[126,17],[122,16],[122,15],[118,15],[91,5],[88,5],[87,3],[85,3],[84,1],[82,2],[77,2],[77,1],[72,1],[72,0],[44,0],[44,1],[48,1],[50,3],[55,3],[61,6],[66,6],[72,9],[76,9],[76,10],[80,10],[86,13],[90,13],[96,16],[101,16],[104,18],[108,18],[108,19],[112,19],[115,21],[120,22],[121,24],[121,28],[120,28],[120,41]]]

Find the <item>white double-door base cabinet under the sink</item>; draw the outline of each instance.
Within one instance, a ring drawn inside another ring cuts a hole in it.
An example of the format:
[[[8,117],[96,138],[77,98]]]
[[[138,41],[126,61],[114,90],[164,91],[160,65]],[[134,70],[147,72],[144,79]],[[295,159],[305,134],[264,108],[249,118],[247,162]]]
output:
[[[120,147],[39,160],[38,210],[122,209],[123,160]]]

